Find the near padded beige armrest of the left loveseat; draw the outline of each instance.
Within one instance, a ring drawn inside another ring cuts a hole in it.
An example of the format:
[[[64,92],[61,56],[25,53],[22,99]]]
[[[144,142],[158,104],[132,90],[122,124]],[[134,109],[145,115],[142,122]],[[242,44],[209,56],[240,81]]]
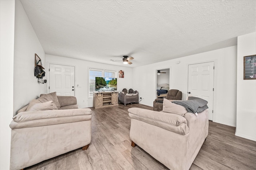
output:
[[[10,123],[11,129],[55,125],[61,123],[72,123],[92,119],[92,110],[65,109],[65,110],[42,110],[25,111],[18,113]]]

